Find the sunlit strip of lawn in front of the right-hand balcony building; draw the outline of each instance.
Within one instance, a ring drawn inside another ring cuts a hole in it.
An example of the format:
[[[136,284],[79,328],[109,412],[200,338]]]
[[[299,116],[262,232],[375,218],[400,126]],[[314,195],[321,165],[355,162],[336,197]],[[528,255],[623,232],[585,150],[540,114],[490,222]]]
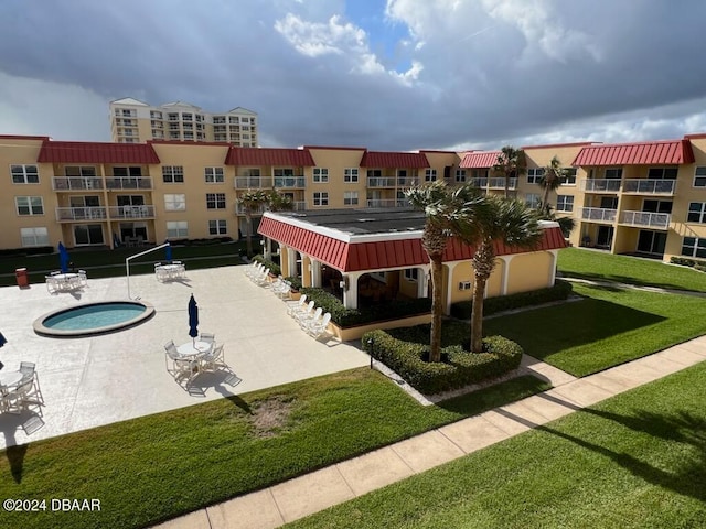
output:
[[[706,273],[693,268],[579,248],[560,250],[558,269],[570,278],[706,292]]]

